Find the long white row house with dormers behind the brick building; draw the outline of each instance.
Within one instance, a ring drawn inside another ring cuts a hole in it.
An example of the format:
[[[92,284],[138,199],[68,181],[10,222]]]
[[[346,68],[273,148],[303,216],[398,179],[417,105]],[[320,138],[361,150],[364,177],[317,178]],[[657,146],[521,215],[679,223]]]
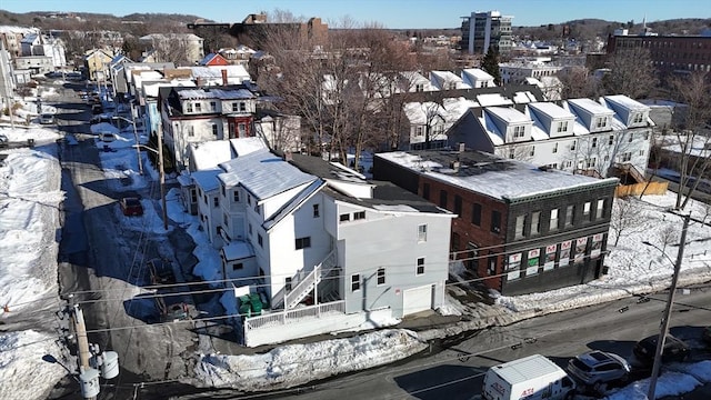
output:
[[[560,106],[532,102],[518,107],[470,109],[447,132],[449,146],[608,177],[627,171],[643,181],[653,122],[649,107],[625,96],[600,101],[569,99]]]

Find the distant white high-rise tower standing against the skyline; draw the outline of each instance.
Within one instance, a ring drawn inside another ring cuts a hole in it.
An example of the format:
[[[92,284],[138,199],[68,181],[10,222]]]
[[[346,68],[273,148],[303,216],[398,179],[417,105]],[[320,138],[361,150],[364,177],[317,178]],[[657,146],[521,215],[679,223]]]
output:
[[[485,54],[490,46],[499,52],[511,50],[511,20],[499,11],[472,12],[462,17],[462,40],[460,49],[470,54]]]

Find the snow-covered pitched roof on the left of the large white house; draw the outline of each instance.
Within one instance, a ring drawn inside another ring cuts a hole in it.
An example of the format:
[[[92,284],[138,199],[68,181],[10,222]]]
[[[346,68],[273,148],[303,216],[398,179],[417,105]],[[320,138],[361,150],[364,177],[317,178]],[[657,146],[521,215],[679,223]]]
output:
[[[299,170],[267,149],[223,162],[219,179],[227,186],[240,184],[258,199],[268,199],[317,178]]]

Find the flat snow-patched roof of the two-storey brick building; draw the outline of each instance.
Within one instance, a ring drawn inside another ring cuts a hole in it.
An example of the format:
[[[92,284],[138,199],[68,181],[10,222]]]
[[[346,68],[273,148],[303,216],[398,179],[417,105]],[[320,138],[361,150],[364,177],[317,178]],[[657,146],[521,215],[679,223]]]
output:
[[[541,170],[517,160],[503,159],[480,151],[410,151],[377,153],[395,164],[429,178],[497,199],[529,197],[599,184],[617,184],[617,178],[597,179],[561,170]],[[450,169],[459,161],[460,168]]]

